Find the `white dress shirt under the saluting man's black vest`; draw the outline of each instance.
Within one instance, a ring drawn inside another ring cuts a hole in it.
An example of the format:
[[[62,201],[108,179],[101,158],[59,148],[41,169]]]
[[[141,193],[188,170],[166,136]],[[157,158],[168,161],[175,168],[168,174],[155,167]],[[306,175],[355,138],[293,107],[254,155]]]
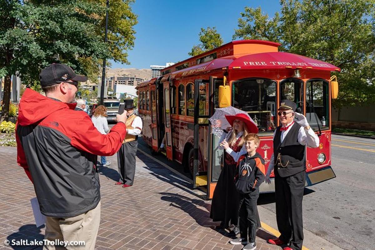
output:
[[[293,121],[289,124],[287,124],[287,126],[283,126],[283,127],[288,127],[290,124],[292,124]],[[290,129],[292,128],[293,126],[290,126],[288,127],[287,130],[282,130],[281,131],[281,142],[284,141],[285,139],[285,136],[288,135],[288,132],[290,131]],[[273,139],[275,139],[275,135],[276,135],[276,130],[275,132],[273,133]],[[314,130],[312,130],[312,128],[310,127],[309,130],[306,130],[304,127],[300,127],[300,130],[298,131],[298,142],[303,145],[303,146],[307,146],[309,148],[317,148],[319,147],[319,137],[318,135],[314,132]],[[273,149],[275,150],[275,148]],[[270,159],[270,164],[268,165],[268,170],[267,170],[267,174],[271,173],[271,171],[273,170],[273,162],[275,160],[275,157],[274,157],[274,154],[272,154],[271,156],[271,159]]]

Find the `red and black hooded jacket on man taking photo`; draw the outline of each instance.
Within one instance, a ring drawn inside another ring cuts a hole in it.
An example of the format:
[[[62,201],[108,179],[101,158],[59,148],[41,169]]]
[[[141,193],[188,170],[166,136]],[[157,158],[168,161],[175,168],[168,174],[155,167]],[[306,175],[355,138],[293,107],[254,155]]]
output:
[[[40,211],[74,217],[100,201],[97,155],[111,156],[126,135],[124,123],[102,135],[89,115],[26,89],[16,124],[17,162],[33,182]]]

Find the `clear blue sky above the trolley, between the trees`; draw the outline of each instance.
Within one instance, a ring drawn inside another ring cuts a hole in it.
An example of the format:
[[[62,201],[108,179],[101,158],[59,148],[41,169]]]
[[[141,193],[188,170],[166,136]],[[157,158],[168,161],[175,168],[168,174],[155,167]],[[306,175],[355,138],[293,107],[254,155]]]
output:
[[[280,10],[278,0],[136,0],[132,5],[138,15],[133,50],[128,51],[130,65],[111,61],[112,68],[149,69],[150,65],[182,61],[199,44],[201,28],[216,27],[224,43],[231,42],[245,6],[261,6],[273,16]]]

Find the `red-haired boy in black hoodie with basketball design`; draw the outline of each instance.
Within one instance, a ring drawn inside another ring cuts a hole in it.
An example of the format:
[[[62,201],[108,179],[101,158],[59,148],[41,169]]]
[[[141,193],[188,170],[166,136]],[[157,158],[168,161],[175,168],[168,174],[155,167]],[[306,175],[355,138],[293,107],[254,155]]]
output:
[[[257,234],[257,200],[259,186],[265,178],[264,160],[256,152],[260,143],[257,134],[245,136],[245,148],[248,152],[240,157],[237,163],[235,186],[240,193],[240,238],[232,239],[233,245],[244,244],[244,250],[255,250],[255,237]],[[249,233],[248,233],[249,231]],[[249,238],[248,238],[249,235]]]

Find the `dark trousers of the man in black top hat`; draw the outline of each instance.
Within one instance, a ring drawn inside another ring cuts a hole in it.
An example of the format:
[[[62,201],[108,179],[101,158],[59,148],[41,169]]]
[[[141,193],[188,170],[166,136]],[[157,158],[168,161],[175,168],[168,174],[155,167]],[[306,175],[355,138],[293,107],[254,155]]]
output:
[[[125,142],[117,152],[117,166],[120,180],[127,185],[133,185],[135,175],[135,155],[138,141]]]

